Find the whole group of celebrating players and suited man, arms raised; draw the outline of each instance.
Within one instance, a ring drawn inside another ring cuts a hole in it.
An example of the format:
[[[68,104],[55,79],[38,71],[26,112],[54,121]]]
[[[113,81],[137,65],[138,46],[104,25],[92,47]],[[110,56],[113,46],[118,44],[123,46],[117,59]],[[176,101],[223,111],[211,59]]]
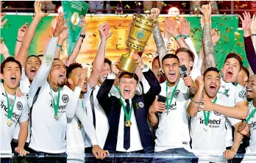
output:
[[[256,76],[249,76],[238,54],[228,54],[221,70],[216,68],[214,46],[220,32],[211,27],[211,4],[202,5],[200,11],[199,55],[190,37],[190,22],[179,18],[177,27],[177,20],[166,18],[168,37],[161,35],[158,24],[154,27],[157,49],[152,70],[139,54],[132,54],[135,73],[120,70],[120,59],[115,63],[107,59],[112,32],[102,23],[88,76],[88,69],[75,62],[85,38],[84,18],[67,61],[59,59],[68,37],[61,12],[45,54],[28,56],[38,23],[47,15],[35,1],[32,23],[18,29],[14,57],[1,43],[5,59],[1,63],[0,153],[67,153],[67,159],[56,157],[54,162],[85,162],[85,153],[93,153],[96,159],[109,153],[191,154],[198,162],[227,162],[236,153],[256,154]],[[160,10],[153,8],[149,18],[157,21],[158,15]],[[6,22],[3,18],[1,14],[1,26]],[[255,73],[256,15],[251,18],[244,12],[240,18],[246,56]],[[174,54],[166,51],[170,37],[179,44]],[[248,138],[246,147],[243,139]],[[253,161],[245,156],[243,162]]]

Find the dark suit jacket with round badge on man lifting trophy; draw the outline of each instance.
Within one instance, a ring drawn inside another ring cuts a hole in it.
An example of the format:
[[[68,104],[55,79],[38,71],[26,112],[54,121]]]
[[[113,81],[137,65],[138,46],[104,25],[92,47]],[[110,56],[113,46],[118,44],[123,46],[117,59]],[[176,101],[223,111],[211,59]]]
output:
[[[149,129],[149,124],[147,123],[147,115],[149,107],[154,102],[155,96],[160,93],[161,88],[152,70],[143,73],[143,75],[149,82],[150,89],[146,94],[135,95],[132,98],[132,106],[135,112],[135,119],[137,121],[143,151],[147,153],[149,151],[154,151],[154,138]],[[108,96],[113,83],[114,79],[106,79],[100,87],[97,95],[99,104],[106,112],[110,125],[110,130],[107,134],[107,140],[104,145],[104,150],[108,151],[115,151],[116,149],[118,125],[121,113],[121,102],[119,101],[119,98],[116,98],[115,96]],[[143,103],[143,105],[141,105],[141,103]]]

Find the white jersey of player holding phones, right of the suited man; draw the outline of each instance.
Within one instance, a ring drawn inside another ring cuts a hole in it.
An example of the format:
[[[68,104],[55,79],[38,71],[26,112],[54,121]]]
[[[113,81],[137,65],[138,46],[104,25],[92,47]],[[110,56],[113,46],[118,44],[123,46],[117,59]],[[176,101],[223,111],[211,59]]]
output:
[[[168,87],[168,95],[166,96],[166,82],[160,84],[160,95],[171,98],[174,87]],[[156,131],[154,151],[166,151],[171,148],[185,148],[191,151],[190,136],[188,128],[188,115],[184,108],[185,102],[188,100],[190,91],[182,79],[179,79],[177,90],[171,102],[171,109],[158,114],[159,124]],[[167,115],[168,112],[168,115]]]

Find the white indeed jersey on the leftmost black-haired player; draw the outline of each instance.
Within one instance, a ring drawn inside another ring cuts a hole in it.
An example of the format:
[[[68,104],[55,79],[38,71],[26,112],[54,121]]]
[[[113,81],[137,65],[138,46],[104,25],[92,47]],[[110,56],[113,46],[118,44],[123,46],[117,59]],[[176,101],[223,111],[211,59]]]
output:
[[[0,153],[12,153],[12,148],[10,142],[13,140],[13,132],[15,131],[15,126],[17,123],[26,122],[29,119],[29,108],[27,106],[27,99],[25,96],[18,97],[14,95],[8,95],[10,106],[13,105],[13,115],[11,119],[11,126],[7,126],[7,97],[5,95],[3,84],[1,83],[0,89],[0,121],[1,121],[1,128],[0,128]]]

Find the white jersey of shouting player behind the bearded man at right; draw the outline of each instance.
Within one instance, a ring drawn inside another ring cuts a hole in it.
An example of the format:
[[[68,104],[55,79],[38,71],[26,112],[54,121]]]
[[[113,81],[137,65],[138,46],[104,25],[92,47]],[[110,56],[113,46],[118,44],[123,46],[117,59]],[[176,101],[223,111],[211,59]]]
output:
[[[218,90],[218,93],[223,93],[224,95],[229,98],[232,103],[237,104],[241,101],[247,101],[246,98],[246,88],[238,84],[237,86],[233,85],[232,83],[224,82],[223,79],[221,79],[221,87]],[[227,140],[226,140],[226,147],[232,146],[232,128],[231,124],[227,122]]]

